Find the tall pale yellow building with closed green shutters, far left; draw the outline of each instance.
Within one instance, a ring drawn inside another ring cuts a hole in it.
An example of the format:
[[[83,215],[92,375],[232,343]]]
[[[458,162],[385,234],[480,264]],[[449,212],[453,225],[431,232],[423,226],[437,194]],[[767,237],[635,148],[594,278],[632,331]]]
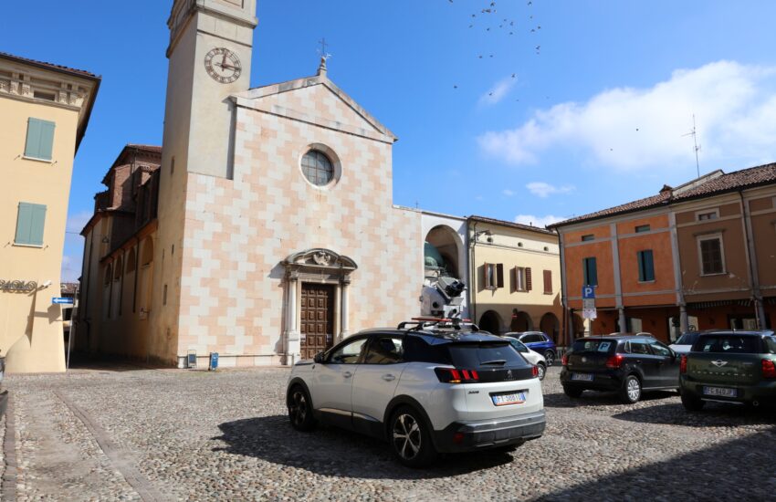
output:
[[[0,354],[9,372],[65,370],[60,296],[73,158],[100,78],[0,53]]]

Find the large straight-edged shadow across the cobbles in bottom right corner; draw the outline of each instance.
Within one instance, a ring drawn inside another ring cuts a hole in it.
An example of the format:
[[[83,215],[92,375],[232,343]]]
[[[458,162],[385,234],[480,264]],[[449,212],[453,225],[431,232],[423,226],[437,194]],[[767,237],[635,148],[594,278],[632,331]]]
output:
[[[539,500],[772,500],[773,428],[590,479]],[[757,480],[754,481],[753,480]]]

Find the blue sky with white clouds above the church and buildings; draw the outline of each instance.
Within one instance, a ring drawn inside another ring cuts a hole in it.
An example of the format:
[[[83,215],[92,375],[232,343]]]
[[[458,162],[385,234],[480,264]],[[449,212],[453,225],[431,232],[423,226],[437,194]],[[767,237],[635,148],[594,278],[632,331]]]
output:
[[[252,86],[313,74],[326,37],[330,78],[400,138],[394,202],[449,214],[543,225],[683,183],[693,113],[701,173],[776,160],[776,2],[490,4],[258,0]],[[161,143],[172,0],[29,5],[4,6],[0,50],[103,78],[78,232],[121,147]],[[68,234],[64,276],[81,246]]]

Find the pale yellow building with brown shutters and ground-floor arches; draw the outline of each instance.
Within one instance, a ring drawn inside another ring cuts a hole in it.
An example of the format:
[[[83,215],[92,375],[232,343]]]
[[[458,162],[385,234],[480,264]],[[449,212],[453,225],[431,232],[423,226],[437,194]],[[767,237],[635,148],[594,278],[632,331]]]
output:
[[[472,319],[492,333],[561,333],[558,235],[530,225],[470,216],[469,285]]]

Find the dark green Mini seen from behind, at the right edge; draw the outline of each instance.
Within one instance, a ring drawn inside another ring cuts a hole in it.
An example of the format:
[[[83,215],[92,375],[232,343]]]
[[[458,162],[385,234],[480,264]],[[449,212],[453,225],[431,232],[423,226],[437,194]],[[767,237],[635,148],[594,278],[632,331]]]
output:
[[[698,411],[707,401],[759,406],[776,403],[773,331],[705,331],[679,366],[682,404]]]

